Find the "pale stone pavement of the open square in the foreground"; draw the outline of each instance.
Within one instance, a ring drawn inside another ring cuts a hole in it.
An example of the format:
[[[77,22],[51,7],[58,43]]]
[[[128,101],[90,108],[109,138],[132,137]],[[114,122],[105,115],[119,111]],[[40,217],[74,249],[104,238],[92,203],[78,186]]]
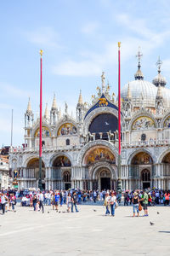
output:
[[[118,207],[116,217],[105,217],[102,206],[51,208],[42,214],[18,206],[0,215],[0,255],[169,255],[170,207],[150,207],[150,216],[139,218],[131,217],[132,207]]]

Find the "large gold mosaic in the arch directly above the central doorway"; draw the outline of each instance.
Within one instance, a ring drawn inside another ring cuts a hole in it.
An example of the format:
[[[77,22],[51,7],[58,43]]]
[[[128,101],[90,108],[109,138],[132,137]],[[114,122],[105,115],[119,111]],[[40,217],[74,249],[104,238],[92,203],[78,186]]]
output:
[[[116,159],[114,154],[108,148],[98,147],[88,151],[85,157],[85,163],[87,165],[94,165],[98,161],[106,161],[110,164],[115,164]]]

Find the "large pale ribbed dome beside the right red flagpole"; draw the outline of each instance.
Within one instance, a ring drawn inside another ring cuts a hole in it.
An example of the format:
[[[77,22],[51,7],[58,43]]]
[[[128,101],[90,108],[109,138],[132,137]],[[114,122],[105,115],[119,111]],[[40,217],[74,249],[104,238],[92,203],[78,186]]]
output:
[[[144,107],[156,106],[157,88],[154,84],[144,80],[134,80],[125,84],[122,88],[121,97],[123,100],[127,99],[128,90],[132,95],[132,102],[134,107],[143,105]]]

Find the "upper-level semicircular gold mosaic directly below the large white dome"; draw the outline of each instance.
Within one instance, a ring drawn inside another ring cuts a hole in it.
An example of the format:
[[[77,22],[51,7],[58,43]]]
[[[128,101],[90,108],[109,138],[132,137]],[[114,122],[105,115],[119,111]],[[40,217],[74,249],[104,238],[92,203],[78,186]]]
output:
[[[132,130],[146,130],[148,128],[155,128],[156,124],[153,119],[150,119],[148,116],[142,116],[138,119],[135,119],[132,125]]]

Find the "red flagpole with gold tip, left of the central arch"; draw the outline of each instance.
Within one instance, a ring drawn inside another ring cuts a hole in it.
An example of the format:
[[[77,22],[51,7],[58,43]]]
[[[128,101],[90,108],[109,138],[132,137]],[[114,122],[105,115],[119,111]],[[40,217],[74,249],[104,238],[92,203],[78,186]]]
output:
[[[42,189],[42,49],[40,49],[40,133],[39,133],[39,181],[38,188]]]

